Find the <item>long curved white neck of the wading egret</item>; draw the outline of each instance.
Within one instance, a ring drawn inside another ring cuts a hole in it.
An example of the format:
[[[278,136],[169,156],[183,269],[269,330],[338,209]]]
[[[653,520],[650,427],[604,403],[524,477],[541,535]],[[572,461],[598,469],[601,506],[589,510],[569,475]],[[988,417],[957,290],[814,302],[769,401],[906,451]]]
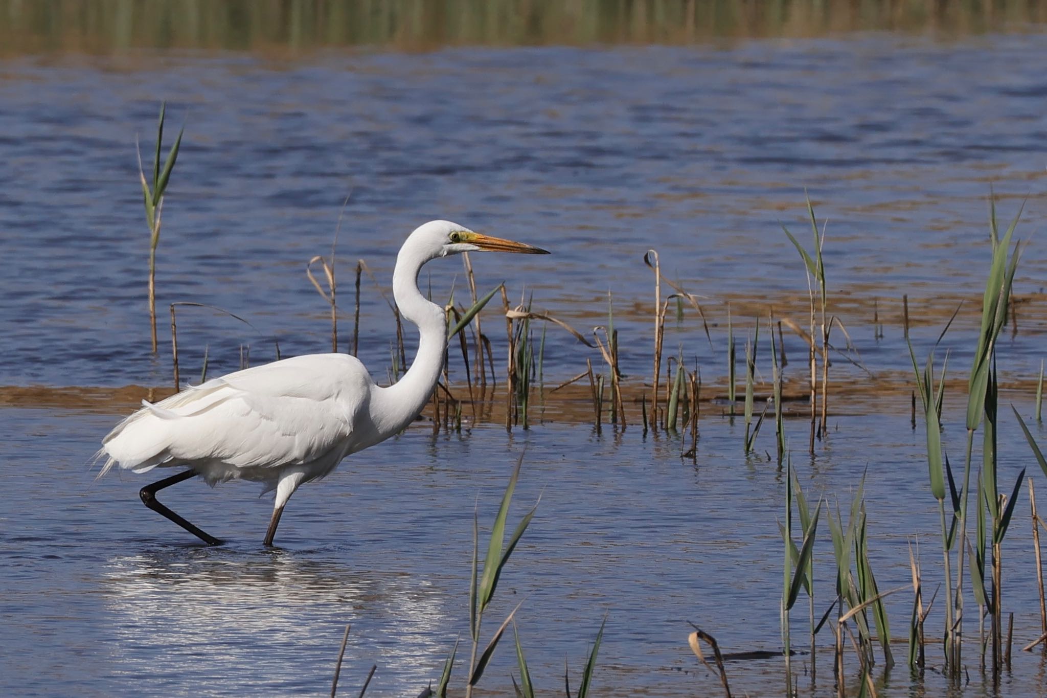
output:
[[[393,271],[393,297],[400,314],[418,325],[415,362],[403,378],[372,395],[372,413],[385,433],[397,433],[418,416],[440,379],[447,353],[447,320],[442,308],[418,290],[418,273],[430,256],[405,245]]]

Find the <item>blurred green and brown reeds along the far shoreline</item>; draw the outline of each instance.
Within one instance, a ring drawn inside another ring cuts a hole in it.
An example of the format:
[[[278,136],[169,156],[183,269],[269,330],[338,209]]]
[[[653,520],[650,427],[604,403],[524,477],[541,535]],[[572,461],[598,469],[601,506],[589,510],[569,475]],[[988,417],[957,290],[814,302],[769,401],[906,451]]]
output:
[[[0,0],[0,57],[950,38],[1044,22],[1047,0]]]

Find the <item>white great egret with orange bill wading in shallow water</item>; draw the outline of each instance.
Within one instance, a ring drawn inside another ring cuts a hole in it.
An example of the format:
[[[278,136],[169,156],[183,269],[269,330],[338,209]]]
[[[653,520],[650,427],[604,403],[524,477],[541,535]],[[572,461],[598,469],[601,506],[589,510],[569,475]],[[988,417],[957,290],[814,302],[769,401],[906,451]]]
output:
[[[142,502],[210,545],[221,543],[156,499],[166,487],[202,476],[209,485],[231,479],[263,482],[276,491],[265,545],[272,545],[287,500],[303,482],[324,477],[351,453],[399,433],[422,411],[437,384],[447,348],[444,310],[418,290],[422,265],[472,251],[549,254],[543,249],[490,238],[448,221],[415,229],[400,248],[393,296],[403,317],[418,325],[415,362],[397,383],[380,387],[346,354],[310,354],[227,374],[120,422],[102,440],[114,465],[144,473],[187,470],[143,487]]]

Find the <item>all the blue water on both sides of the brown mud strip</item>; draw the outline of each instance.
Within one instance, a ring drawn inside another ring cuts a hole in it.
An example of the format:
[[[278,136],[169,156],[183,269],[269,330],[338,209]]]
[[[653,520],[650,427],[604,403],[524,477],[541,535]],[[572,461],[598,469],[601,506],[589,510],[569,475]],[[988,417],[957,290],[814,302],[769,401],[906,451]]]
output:
[[[244,344],[252,362],[273,358],[274,339],[284,355],[327,350],[327,309],[304,268],[330,250],[350,190],[338,242],[342,309],[357,258],[385,285],[409,229],[449,218],[556,253],[474,257],[482,291],[506,279],[515,301],[526,287],[536,307],[588,331],[604,321],[612,288],[623,369],[639,381],[649,371],[648,248],[661,252],[667,276],[706,296],[717,355],[728,299],[761,314],[773,302],[802,320],[806,284],[778,222],[809,238],[806,187],[830,221],[830,291],[870,369],[908,370],[907,293],[920,351],[955,302],[971,300],[950,335],[963,370],[986,267],[989,184],[1004,196],[1004,219],[1028,197],[1023,238],[1047,211],[1045,60],[1037,36],[935,43],[886,35],[730,49],[331,52],[279,64],[206,52],[5,60],[0,385],[169,383],[166,313],[176,300],[224,308],[257,328],[184,310],[183,378],[195,379],[205,346],[210,375],[236,367]],[[163,212],[154,358],[133,149],[138,133],[149,150],[161,96],[171,100],[169,135],[184,119],[186,136]],[[1019,270],[1016,293],[1027,302],[1001,343],[1005,377],[1028,379],[1042,356],[1045,249],[1033,239]],[[461,299],[461,267],[431,268],[433,296],[446,298],[458,273]],[[873,298],[887,325],[879,342]],[[503,357],[500,321],[492,314],[488,322]],[[344,346],[351,320],[340,327]],[[392,336],[388,309],[365,277],[360,356],[379,379]],[[670,353],[683,342],[698,354],[709,382],[722,373],[692,313],[666,342]],[[798,342],[786,346],[799,355]],[[598,357],[551,328],[548,382],[576,375],[586,356]],[[844,362],[833,371],[856,374]],[[773,464],[740,454],[741,421],[713,411],[703,418],[696,464],[680,457],[678,444],[634,428],[597,436],[586,426],[537,424],[507,436],[481,425],[437,437],[414,428],[303,488],[281,524],[281,547],[266,550],[258,541],[270,503],[254,486],[209,491],[194,481],[164,493],[229,541],[204,548],[141,506],[136,491],[148,478],[94,480],[87,461],[120,416],[112,407],[0,409],[0,686],[316,694],[351,623],[343,689],[377,663],[369,695],[417,692],[438,676],[454,638],[468,635],[472,504],[482,525],[491,520],[526,449],[514,519],[539,495],[541,503],[487,632],[526,600],[521,641],[536,682],[553,689],[564,656],[580,675],[606,615],[602,693],[716,692],[689,653],[686,622],[725,651],[779,647],[783,485]],[[868,469],[881,588],[909,583],[913,535],[936,583],[938,519],[921,429],[909,428],[907,411],[830,422],[818,457],[798,458],[808,492],[846,503]],[[788,428],[805,441],[804,423]],[[950,423],[946,436],[958,452],[962,426]],[[765,430],[761,452],[772,438]],[[1001,424],[1001,489],[1022,467],[1039,477],[1021,438],[1010,421]],[[1024,502],[1005,548],[1016,645],[1039,632]],[[817,551],[823,607],[832,586],[826,530]],[[895,637],[905,635],[909,603],[908,591],[890,599]],[[804,614],[794,618],[796,645],[805,644]],[[895,647],[899,667],[889,677],[876,673],[891,693],[946,690],[934,672],[910,684],[904,653]],[[972,671],[964,695],[1037,693],[1041,656],[1016,652],[998,689]],[[817,686],[801,676],[801,691],[831,691],[829,666],[820,657]],[[503,648],[486,684],[505,689],[513,667]],[[780,690],[778,659],[728,671],[739,693]]]

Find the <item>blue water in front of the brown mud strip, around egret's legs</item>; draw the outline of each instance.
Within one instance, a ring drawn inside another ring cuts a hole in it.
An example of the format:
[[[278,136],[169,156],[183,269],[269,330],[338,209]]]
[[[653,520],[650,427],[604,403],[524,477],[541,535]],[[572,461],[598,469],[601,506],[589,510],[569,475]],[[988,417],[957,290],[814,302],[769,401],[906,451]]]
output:
[[[136,491],[149,478],[92,479],[84,454],[111,422],[0,410],[9,435],[0,446],[0,645],[7,648],[8,692],[316,694],[330,681],[346,623],[346,690],[377,663],[375,695],[419,691],[438,676],[454,638],[468,636],[473,501],[486,527],[520,452],[511,521],[541,500],[485,627],[493,631],[524,601],[519,632],[538,685],[559,685],[564,657],[580,675],[604,615],[597,675],[603,694],[715,691],[716,678],[689,654],[687,621],[716,636],[725,652],[779,647],[783,480],[773,464],[740,455],[740,420],[705,422],[697,463],[681,458],[680,445],[636,430],[619,438],[583,426],[545,425],[513,436],[494,426],[437,437],[410,429],[299,490],[273,550],[260,544],[270,504],[254,497],[253,485],[211,491],[191,481],[164,492],[175,511],[228,539],[208,548],[140,504]],[[940,556],[921,430],[875,415],[834,426],[823,454],[814,463],[799,458],[803,486],[846,508],[867,469],[879,588],[909,584],[912,536],[933,588]],[[949,430],[958,433],[959,426]],[[1011,431],[1001,434],[1006,473],[1027,460]],[[884,443],[885,433],[894,437]],[[1027,527],[1021,513],[1005,543],[1005,603],[1016,611],[1019,646],[1039,633]],[[823,528],[819,609],[832,588]],[[895,637],[905,637],[910,604],[908,591],[890,599]],[[798,647],[806,647],[805,615],[802,600],[794,613]],[[496,656],[488,686],[508,684],[515,671],[510,650]],[[908,685],[904,643],[894,652],[899,666],[888,683]],[[800,667],[807,661],[797,657]],[[965,695],[996,695],[982,686],[973,656],[968,661],[974,685]],[[929,662],[940,667],[933,649]],[[831,656],[820,667],[818,690],[831,691]],[[781,681],[779,659],[729,662],[728,671],[737,692],[776,692]],[[1043,672],[1040,654],[1016,651],[1000,695],[1034,694]],[[884,680],[879,671],[876,677]],[[801,676],[806,692],[805,684]],[[929,672],[926,685],[936,694],[945,684]]]

